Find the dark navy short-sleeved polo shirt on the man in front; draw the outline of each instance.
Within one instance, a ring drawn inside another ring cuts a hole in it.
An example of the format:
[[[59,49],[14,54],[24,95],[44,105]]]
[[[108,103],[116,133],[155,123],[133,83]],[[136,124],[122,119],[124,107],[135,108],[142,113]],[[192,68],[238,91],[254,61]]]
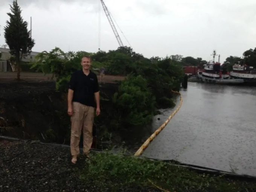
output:
[[[88,75],[85,75],[82,70],[73,73],[70,78],[69,88],[74,91],[73,102],[96,107],[94,93],[99,91],[99,84],[97,75],[91,70]]]

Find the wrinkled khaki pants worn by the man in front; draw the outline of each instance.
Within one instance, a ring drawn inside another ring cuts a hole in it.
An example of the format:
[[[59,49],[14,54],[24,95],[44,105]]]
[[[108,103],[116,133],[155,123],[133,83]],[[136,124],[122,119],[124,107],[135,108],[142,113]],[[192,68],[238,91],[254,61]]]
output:
[[[83,152],[87,153],[93,142],[94,108],[73,102],[71,116],[70,151],[72,156],[79,155],[79,142],[83,130]]]

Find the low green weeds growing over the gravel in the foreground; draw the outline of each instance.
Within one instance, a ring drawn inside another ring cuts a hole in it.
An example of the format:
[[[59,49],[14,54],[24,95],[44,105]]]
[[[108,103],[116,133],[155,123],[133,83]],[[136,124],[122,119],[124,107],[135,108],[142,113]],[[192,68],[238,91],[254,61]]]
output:
[[[169,192],[247,192],[256,189],[256,182],[230,180],[224,175],[198,174],[166,162],[108,152],[92,154],[90,163],[81,171],[81,179],[113,192],[131,184],[157,186]]]

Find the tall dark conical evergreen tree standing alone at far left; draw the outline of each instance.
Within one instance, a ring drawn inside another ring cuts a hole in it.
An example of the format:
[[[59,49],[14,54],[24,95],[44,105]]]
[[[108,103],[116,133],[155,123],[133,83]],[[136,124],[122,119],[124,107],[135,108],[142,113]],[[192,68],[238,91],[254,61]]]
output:
[[[35,40],[32,39],[30,31],[27,29],[27,21],[24,21],[21,16],[21,9],[20,6],[18,6],[17,0],[14,0],[10,7],[11,13],[7,13],[10,20],[6,21],[4,35],[10,53],[15,58],[15,63],[17,65],[17,80],[20,80],[21,59],[31,53],[31,50],[35,45]]]

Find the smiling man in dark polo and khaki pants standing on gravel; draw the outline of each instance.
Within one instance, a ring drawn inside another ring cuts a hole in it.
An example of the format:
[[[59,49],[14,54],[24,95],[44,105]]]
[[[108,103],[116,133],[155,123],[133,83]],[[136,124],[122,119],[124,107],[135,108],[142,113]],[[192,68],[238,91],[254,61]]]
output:
[[[67,113],[71,116],[70,151],[72,163],[76,163],[79,155],[79,142],[82,130],[83,153],[89,158],[89,150],[93,142],[94,108],[96,108],[97,116],[101,113],[98,78],[90,70],[90,56],[84,56],[81,59],[81,65],[82,70],[73,73],[70,79],[67,98]]]

